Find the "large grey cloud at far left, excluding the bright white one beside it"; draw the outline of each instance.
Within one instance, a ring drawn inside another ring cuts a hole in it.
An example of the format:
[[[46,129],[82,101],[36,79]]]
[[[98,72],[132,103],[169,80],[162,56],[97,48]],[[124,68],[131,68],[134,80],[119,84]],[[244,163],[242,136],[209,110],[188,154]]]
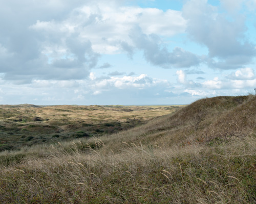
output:
[[[4,31],[0,33],[0,72],[5,73],[4,79],[23,84],[33,79],[86,78],[100,57],[91,41],[72,34],[65,24],[50,27],[81,1],[74,1],[74,5],[68,1],[16,3],[5,2],[0,8],[1,19],[9,19],[0,21]]]

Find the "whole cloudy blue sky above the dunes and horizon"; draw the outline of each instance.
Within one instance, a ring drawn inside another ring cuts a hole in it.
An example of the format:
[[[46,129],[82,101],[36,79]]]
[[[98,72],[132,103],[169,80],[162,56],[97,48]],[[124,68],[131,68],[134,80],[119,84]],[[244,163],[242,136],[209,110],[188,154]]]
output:
[[[256,0],[0,5],[0,104],[181,105],[256,88]]]

